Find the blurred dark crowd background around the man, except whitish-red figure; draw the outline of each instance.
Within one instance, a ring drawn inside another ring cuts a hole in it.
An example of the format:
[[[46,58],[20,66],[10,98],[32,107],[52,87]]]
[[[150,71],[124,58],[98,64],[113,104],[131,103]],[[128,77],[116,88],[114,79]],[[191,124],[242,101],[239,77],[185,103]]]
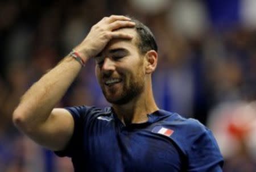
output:
[[[153,89],[159,107],[216,131],[220,121],[209,120],[220,114],[217,108],[256,100],[255,9],[253,0],[0,1],[0,172],[73,171],[68,158],[57,158],[21,135],[11,115],[24,92],[79,44],[93,24],[112,14],[134,16],[154,33],[159,64]],[[93,60],[86,64],[57,107],[108,106],[94,65]],[[251,114],[256,116],[256,108]],[[234,133],[236,127],[225,125]],[[236,138],[240,147],[237,154],[224,155],[224,171],[256,171],[256,158],[248,154],[253,146],[243,149],[245,137]],[[243,156],[247,159],[237,160]],[[241,162],[246,170],[238,168]]]

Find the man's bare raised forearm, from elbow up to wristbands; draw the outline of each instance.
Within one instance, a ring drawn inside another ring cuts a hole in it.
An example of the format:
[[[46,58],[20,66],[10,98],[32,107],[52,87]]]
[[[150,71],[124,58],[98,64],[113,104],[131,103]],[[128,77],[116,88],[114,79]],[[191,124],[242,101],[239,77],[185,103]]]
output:
[[[23,95],[14,111],[14,123],[21,129],[39,126],[46,121],[81,69],[72,57],[65,57]]]

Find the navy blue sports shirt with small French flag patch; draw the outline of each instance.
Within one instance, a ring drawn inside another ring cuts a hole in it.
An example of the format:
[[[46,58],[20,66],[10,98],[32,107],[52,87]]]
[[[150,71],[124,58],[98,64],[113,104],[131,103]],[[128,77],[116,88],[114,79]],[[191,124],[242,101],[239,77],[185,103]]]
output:
[[[125,126],[111,107],[67,110],[75,129],[67,148],[56,154],[71,157],[75,171],[222,171],[216,140],[195,119],[158,110],[145,123]]]

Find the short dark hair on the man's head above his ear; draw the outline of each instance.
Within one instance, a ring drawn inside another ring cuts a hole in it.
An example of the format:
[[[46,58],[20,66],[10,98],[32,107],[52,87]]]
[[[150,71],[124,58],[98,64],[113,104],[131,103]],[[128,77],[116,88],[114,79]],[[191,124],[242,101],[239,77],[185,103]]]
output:
[[[129,16],[129,18],[131,17]],[[131,18],[131,21],[135,22],[135,30],[137,31],[139,36],[139,51],[141,51],[142,54],[145,54],[150,50],[155,50],[157,52],[158,45],[156,44],[155,36],[150,31],[150,29],[137,19]]]

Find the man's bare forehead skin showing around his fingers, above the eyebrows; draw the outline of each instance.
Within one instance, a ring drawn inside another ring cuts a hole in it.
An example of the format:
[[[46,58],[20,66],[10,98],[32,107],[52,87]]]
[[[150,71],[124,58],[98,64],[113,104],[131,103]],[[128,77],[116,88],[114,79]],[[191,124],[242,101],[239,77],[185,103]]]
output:
[[[137,48],[138,35],[135,31],[135,28],[121,28],[117,30],[117,32],[128,33],[133,36],[133,39],[112,39],[106,45],[106,47],[102,50],[101,53],[106,53],[110,49],[115,48],[125,48],[125,49],[133,49]]]

